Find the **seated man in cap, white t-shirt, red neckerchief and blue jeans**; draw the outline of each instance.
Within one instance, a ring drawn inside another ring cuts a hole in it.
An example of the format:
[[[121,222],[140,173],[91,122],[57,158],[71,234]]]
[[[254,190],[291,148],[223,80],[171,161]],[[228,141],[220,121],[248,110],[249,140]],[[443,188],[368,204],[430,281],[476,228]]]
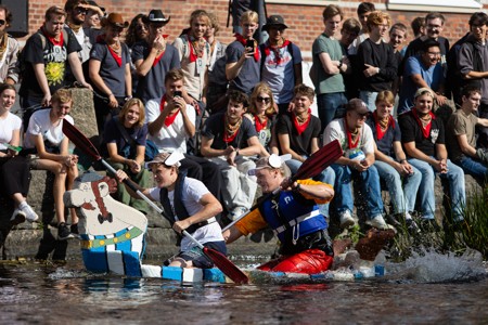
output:
[[[338,140],[344,156],[332,168],[335,171],[335,207],[339,216],[341,227],[356,224],[352,218],[352,180],[358,180],[361,196],[367,203],[365,224],[380,230],[393,229],[383,219],[383,200],[380,176],[374,164],[374,138],[371,128],[365,125],[369,109],[367,104],[352,99],[346,105],[346,116],[332,120],[323,132],[323,144]]]

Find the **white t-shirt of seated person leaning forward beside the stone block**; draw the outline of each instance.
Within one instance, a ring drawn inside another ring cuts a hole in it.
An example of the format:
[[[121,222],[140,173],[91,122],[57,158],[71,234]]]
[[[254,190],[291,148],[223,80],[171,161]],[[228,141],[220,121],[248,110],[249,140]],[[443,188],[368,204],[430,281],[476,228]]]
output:
[[[30,116],[29,126],[24,139],[24,147],[33,148],[35,143],[31,135],[42,134],[42,140],[48,140],[53,145],[60,145],[64,139],[63,133],[63,121],[61,121],[56,127],[51,123],[49,114],[51,109],[40,109]],[[64,117],[68,122],[74,125],[73,117],[66,115]]]

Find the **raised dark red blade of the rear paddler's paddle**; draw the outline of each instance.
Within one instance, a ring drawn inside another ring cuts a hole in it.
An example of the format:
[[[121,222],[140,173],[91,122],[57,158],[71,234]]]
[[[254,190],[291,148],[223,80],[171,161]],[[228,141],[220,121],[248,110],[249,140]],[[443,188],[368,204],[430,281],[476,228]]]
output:
[[[292,180],[306,180],[314,176],[318,176],[322,170],[331,166],[343,155],[343,150],[338,140],[334,140],[321,147],[313,155],[308,157],[307,160],[301,164]]]

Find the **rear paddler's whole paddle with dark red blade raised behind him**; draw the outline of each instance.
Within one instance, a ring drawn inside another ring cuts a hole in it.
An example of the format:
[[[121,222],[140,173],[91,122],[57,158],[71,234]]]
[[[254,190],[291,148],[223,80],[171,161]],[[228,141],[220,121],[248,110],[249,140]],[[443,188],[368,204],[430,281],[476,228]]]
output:
[[[322,146],[319,151],[317,151],[313,155],[308,157],[307,160],[301,164],[300,168],[296,171],[296,173],[291,178],[291,183],[297,180],[306,180],[312,177],[318,176],[322,170],[331,166],[343,155],[343,150],[341,148],[341,144],[338,140],[334,140],[331,143]],[[256,210],[262,202],[270,198],[273,195],[277,195],[280,192],[280,188],[274,190],[273,192],[260,197],[258,202],[251,207],[249,211],[240,216],[237,219],[233,220],[231,223],[223,227],[222,232],[230,229],[241,219],[247,217],[253,210]]]

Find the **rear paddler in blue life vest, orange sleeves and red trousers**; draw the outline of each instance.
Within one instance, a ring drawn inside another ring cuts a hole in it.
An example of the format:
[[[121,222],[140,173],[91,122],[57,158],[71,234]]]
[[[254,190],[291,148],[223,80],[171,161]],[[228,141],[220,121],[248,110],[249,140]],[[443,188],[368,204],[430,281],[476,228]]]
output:
[[[258,266],[259,270],[307,274],[329,270],[334,252],[319,205],[332,199],[332,185],[312,180],[291,182],[285,177],[286,165],[274,154],[259,159],[249,173],[257,177],[265,198],[259,209],[223,233],[227,243],[269,224],[281,242],[281,257]],[[281,192],[266,196],[275,190]]]

